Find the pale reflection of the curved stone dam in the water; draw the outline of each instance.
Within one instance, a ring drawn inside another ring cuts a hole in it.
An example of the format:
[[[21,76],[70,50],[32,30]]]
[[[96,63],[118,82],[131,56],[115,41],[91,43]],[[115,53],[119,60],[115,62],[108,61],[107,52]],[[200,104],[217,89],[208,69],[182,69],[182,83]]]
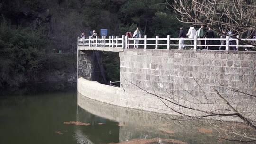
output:
[[[161,138],[178,140],[177,144],[178,142],[188,144],[229,144],[227,141],[219,140],[218,133],[204,124],[204,121],[168,120],[168,115],[165,114],[117,107],[88,99],[79,93],[77,97],[77,103],[82,109],[99,117],[119,122],[119,142],[132,142],[134,139]],[[77,113],[77,121],[86,119],[81,112],[82,110]],[[93,123],[98,122],[95,121]],[[234,144],[234,142],[230,142],[230,144]]]

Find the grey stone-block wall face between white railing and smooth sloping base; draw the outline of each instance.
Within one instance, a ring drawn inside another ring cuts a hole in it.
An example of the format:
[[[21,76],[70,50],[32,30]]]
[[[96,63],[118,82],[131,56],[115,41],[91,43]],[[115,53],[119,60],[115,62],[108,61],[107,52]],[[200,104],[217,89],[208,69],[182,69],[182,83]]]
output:
[[[256,52],[129,49],[120,52],[125,90],[188,90],[211,95],[226,87],[256,95]],[[136,84],[137,86],[133,85]],[[200,86],[199,86],[200,85]]]

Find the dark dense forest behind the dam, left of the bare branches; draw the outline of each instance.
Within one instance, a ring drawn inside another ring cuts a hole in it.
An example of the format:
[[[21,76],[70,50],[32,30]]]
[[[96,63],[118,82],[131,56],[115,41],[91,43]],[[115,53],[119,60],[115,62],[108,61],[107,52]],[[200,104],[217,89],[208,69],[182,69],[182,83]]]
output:
[[[183,26],[166,0],[0,0],[0,14],[0,89],[73,81],[82,32],[120,36],[139,27],[148,37],[177,37]],[[118,54],[103,55],[108,80],[117,80]]]

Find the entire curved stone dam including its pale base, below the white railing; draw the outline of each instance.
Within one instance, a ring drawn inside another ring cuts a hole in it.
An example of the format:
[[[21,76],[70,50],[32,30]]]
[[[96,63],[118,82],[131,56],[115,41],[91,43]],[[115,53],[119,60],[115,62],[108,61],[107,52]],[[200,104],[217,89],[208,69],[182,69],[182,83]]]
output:
[[[101,76],[94,51],[78,50],[77,90],[84,97],[126,108],[191,116],[202,116],[205,111],[229,113],[227,100],[244,116],[256,117],[256,52],[121,50],[119,88],[97,82]]]

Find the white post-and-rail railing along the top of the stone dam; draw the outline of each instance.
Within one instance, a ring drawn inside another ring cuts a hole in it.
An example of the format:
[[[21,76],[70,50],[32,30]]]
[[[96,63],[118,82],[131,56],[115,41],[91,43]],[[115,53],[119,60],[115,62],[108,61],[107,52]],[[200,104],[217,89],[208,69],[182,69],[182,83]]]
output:
[[[239,38],[239,36],[237,36]],[[256,42],[256,39],[240,39],[242,41],[250,41]],[[137,41],[137,43],[136,43]],[[193,45],[191,44],[182,44],[182,41],[192,41]],[[203,41],[204,44],[198,45],[198,41]],[[207,41],[223,41],[224,45],[207,45]],[[236,42],[235,45],[229,45],[230,41]],[[176,43],[176,44],[175,44]],[[239,40],[235,38],[230,38],[226,36],[226,38],[170,38],[170,35],[167,35],[167,38],[159,38],[156,36],[155,38],[147,38],[145,35],[143,38],[128,38],[125,35],[122,35],[121,38],[118,36],[102,36],[99,38],[89,37],[88,39],[77,38],[77,46],[82,47],[120,47],[120,48],[144,48],[149,49],[148,47],[152,47],[154,49],[158,49],[160,46],[162,48],[170,49],[170,46],[177,46],[178,49],[182,49],[183,46],[191,46],[193,50],[197,50],[198,47],[225,47],[225,50],[229,50],[230,47],[236,47],[238,50],[239,47],[254,47],[253,45],[240,45]],[[152,48],[151,48],[152,49]]]

